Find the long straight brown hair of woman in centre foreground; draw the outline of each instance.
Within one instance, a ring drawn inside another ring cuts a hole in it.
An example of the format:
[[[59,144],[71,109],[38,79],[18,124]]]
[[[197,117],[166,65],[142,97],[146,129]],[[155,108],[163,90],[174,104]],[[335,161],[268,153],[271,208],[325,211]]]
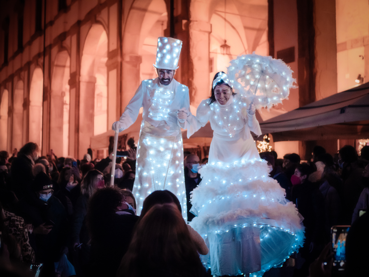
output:
[[[155,205],[138,223],[117,277],[199,277],[203,265],[180,211]]]

